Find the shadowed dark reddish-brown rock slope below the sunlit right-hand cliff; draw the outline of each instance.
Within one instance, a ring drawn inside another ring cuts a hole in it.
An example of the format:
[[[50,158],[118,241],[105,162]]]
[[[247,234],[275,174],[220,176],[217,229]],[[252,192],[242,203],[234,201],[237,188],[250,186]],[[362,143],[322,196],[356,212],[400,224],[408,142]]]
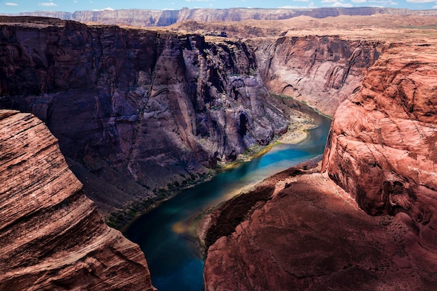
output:
[[[320,167],[303,169],[212,214],[206,237],[219,238],[207,252],[205,290],[435,289],[436,267],[412,251],[406,224],[368,216]],[[251,197],[259,199],[248,207]]]

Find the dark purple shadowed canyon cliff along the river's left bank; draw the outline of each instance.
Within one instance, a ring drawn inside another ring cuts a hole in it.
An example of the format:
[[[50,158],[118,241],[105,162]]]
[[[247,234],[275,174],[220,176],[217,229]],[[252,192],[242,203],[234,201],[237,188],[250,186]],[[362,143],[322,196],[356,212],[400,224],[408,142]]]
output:
[[[0,107],[45,121],[103,209],[198,179],[287,129],[244,43],[40,18],[3,21]],[[108,185],[91,187],[96,178]]]

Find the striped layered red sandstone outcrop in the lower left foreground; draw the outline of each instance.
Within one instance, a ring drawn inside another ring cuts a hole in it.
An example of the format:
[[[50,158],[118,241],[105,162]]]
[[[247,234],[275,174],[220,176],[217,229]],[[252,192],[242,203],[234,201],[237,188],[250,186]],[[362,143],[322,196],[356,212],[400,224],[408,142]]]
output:
[[[103,222],[31,114],[0,110],[0,289],[154,290],[138,245]]]

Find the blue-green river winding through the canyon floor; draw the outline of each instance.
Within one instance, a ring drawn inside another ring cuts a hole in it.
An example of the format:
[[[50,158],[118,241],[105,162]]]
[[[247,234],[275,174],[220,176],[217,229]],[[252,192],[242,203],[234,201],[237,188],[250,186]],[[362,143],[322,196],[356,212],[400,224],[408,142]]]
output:
[[[318,126],[309,130],[306,140],[299,144],[277,144],[263,156],[181,191],[140,216],[124,232],[145,253],[152,284],[159,291],[204,290],[204,262],[198,241],[188,234],[195,216],[277,172],[323,154],[331,120],[294,100],[283,101],[291,107],[302,106],[299,110],[310,114]]]

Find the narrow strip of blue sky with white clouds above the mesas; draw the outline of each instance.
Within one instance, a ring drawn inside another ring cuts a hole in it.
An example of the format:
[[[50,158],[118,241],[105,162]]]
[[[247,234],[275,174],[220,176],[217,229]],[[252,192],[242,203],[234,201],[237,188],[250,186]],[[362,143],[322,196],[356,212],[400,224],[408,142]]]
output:
[[[319,8],[379,6],[409,9],[436,9],[437,0],[6,0],[0,1],[0,13],[23,11],[103,9],[180,9],[188,8]]]

